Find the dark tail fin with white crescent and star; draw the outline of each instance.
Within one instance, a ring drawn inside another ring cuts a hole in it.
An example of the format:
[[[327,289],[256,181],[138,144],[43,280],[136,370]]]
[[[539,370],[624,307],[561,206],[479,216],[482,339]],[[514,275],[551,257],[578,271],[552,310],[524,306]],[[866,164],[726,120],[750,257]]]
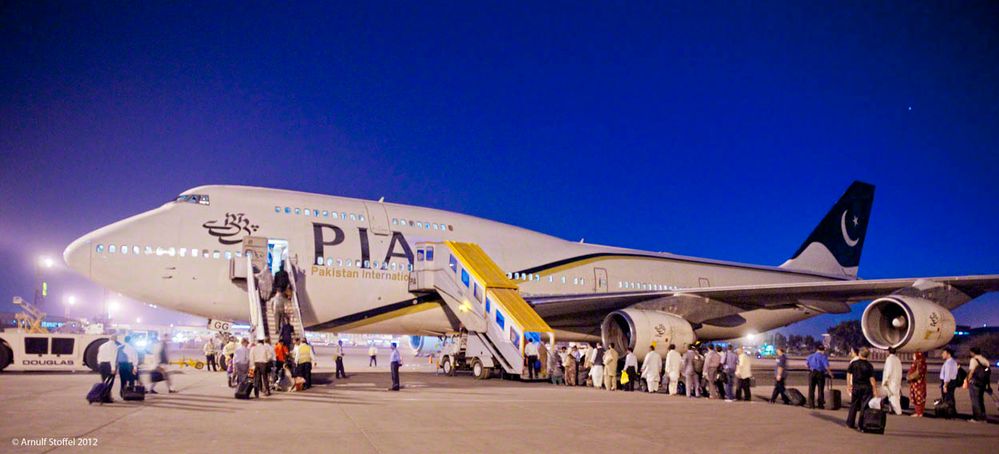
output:
[[[857,277],[874,185],[854,181],[781,268]]]

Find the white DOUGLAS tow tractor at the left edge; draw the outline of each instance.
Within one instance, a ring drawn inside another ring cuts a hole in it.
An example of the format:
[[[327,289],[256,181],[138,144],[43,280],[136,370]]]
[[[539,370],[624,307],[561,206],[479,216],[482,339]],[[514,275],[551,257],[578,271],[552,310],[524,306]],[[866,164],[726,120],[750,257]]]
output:
[[[104,334],[0,333],[0,371],[96,372]]]

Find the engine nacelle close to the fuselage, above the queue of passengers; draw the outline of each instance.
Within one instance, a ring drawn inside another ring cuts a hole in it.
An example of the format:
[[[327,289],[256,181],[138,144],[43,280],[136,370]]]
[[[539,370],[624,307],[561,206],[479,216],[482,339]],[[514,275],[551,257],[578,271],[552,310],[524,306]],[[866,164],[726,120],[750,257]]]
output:
[[[622,309],[611,312],[600,324],[604,346],[611,343],[622,356],[631,349],[639,359],[654,343],[656,352],[666,356],[670,344],[680,352],[687,350],[697,337],[686,320],[666,312],[642,309]]]

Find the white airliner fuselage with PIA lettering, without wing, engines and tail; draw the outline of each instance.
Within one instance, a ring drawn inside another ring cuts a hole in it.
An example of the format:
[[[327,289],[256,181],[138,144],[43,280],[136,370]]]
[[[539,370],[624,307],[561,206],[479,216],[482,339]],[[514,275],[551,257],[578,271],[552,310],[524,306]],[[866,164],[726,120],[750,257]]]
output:
[[[230,279],[227,258],[241,253],[246,236],[285,240],[288,256],[304,272],[299,285],[309,295],[308,307],[302,308],[306,327],[418,335],[449,331],[444,312],[386,316],[378,309],[417,297],[408,291],[408,270],[415,245],[422,241],[479,244],[526,295],[836,279],[569,242],[472,216],[393,203],[240,186],[203,186],[183,197],[193,195],[199,200],[208,196],[208,202],[173,201],[98,229],[66,249],[66,262],[91,280],[143,302],[209,318],[246,320],[245,287]],[[815,314],[794,308],[741,315],[748,321],[744,326],[704,327],[698,336],[736,337]],[[573,334],[562,338],[593,339],[592,333]]]

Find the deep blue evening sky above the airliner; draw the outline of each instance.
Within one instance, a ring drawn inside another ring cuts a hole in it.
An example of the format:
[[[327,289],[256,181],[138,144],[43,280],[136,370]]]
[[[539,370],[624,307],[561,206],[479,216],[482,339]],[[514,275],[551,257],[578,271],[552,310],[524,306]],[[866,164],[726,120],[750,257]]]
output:
[[[863,277],[999,273],[996,3],[473,3],[5,3],[0,297],[212,183],[779,264],[859,179]]]

